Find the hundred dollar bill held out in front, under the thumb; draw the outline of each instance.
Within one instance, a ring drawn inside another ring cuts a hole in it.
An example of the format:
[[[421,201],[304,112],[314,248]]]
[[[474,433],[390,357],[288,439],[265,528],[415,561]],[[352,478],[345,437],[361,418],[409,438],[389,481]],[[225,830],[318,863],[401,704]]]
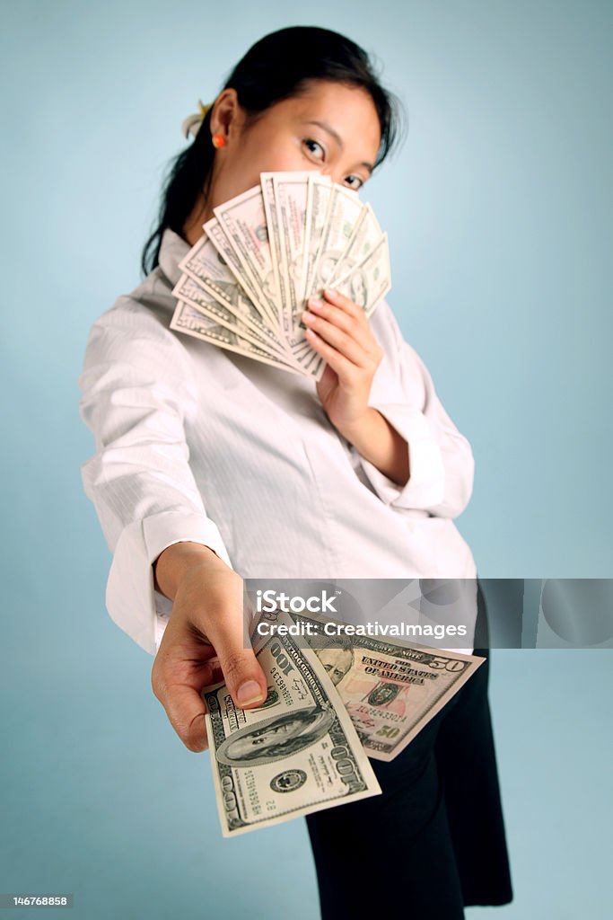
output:
[[[261,707],[236,707],[225,684],[202,692],[223,836],[378,795],[351,719],[312,650],[285,635],[266,638],[256,654],[268,678]]]

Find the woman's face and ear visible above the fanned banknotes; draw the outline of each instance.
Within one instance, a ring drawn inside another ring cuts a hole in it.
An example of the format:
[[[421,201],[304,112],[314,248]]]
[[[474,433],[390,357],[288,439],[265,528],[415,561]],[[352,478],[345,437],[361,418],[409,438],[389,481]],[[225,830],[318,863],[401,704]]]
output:
[[[210,131],[221,133],[226,145],[215,152],[207,207],[199,202],[188,222],[192,244],[212,209],[257,185],[261,172],[316,169],[358,191],[380,147],[379,118],[369,94],[327,81],[312,82],[301,96],[278,102],[247,127],[235,90],[225,89],[211,112]]]

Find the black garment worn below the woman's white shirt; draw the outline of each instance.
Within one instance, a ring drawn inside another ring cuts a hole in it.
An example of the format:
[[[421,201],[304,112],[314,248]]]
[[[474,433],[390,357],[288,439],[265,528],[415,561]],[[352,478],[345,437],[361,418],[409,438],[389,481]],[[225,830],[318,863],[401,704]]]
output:
[[[477,598],[486,661],[403,753],[370,761],[383,794],[307,816],[323,920],[460,920],[513,898]]]

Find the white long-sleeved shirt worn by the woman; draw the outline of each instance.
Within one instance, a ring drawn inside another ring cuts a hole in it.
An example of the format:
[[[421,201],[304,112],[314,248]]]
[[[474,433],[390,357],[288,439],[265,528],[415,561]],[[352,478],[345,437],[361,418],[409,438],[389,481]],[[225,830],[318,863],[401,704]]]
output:
[[[471,497],[471,445],[390,306],[369,320],[385,353],[369,405],[409,445],[403,487],[336,431],[311,377],[169,328],[188,248],[165,231],[158,268],[94,324],[79,379],[96,439],[83,482],[113,553],[119,627],[155,653],[172,605],[152,563],[183,540],[244,578],[475,579],[453,523]]]

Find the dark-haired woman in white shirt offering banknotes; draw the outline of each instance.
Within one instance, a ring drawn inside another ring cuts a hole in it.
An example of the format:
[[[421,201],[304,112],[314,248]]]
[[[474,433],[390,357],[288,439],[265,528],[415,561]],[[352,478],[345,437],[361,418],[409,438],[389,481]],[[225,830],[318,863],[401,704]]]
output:
[[[267,170],[358,190],[395,132],[352,41],[305,27],[258,41],[176,159],[147,277],[92,329],[83,476],[114,554],[108,610],[156,652],[153,692],[191,751],[207,746],[203,686],[223,677],[242,707],[267,696],[244,649],[243,578],[476,577],[452,520],[471,446],[387,304],[368,321],[334,291],[309,301],[317,384],[169,329],[178,262],[216,205]],[[453,920],[510,900],[486,691],[487,663],[401,756],[373,764],[381,797],[309,817],[324,917],[392,901]]]

